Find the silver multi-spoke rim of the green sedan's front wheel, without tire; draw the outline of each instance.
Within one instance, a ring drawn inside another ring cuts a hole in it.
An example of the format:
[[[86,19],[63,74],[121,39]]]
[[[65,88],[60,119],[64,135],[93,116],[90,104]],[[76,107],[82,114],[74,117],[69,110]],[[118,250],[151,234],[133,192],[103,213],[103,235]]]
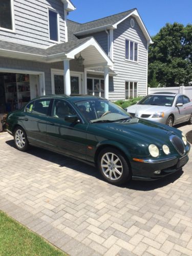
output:
[[[103,174],[110,180],[118,180],[123,172],[121,160],[114,153],[105,153],[101,158]]]

